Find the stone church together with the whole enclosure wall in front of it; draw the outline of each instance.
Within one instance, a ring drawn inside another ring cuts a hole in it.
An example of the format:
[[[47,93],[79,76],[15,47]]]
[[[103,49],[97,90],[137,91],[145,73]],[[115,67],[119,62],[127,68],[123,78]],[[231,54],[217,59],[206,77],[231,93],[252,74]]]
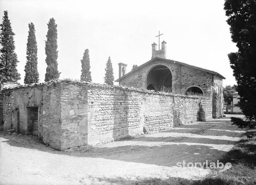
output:
[[[0,79],[0,129],[37,135],[65,150],[223,115],[225,78],[166,59],[166,42],[161,50],[152,44],[151,60],[137,69],[126,74],[126,66],[119,63],[120,86],[66,80],[19,85]]]

